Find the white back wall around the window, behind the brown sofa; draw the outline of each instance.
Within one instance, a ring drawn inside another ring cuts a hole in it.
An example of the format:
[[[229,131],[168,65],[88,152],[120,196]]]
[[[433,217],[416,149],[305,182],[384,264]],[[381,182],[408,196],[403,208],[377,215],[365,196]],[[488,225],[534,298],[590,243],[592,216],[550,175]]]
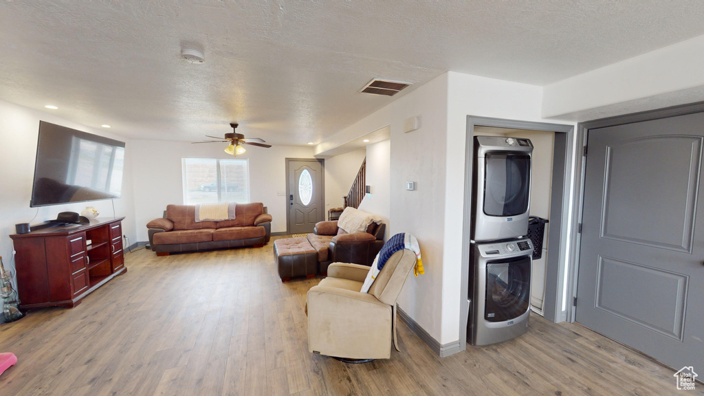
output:
[[[166,205],[183,204],[182,158],[232,159],[218,143],[135,140],[132,146],[134,218],[140,242],[149,240],[146,223],[161,217]],[[296,146],[249,147],[239,156],[249,159],[249,199],[268,207],[272,233],[286,231],[286,159],[312,157],[312,147]]]

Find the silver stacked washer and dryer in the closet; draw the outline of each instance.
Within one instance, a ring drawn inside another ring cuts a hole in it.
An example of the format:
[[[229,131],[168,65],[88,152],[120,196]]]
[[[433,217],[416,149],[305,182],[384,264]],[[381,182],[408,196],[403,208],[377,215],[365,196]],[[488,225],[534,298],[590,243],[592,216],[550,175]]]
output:
[[[489,345],[528,330],[533,243],[528,139],[474,137],[467,341]]]

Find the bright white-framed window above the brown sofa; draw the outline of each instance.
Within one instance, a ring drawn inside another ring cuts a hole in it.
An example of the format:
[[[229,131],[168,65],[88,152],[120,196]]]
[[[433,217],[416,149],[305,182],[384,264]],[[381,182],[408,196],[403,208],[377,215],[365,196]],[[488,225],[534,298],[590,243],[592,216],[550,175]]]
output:
[[[248,159],[183,159],[183,202],[249,202]]]

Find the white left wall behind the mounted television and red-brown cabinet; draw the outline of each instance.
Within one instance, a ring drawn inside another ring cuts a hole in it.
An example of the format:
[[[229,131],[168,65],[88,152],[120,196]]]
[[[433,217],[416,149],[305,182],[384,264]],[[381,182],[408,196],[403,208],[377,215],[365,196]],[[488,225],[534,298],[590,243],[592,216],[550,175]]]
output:
[[[14,268],[13,245],[8,235],[15,233],[16,223],[31,221],[32,224],[39,224],[46,220],[55,219],[56,215],[62,211],[80,213],[86,206],[94,206],[98,209],[99,217],[113,217],[113,204],[109,199],[30,208],[39,120],[125,141],[125,139],[108,134],[104,130],[88,128],[51,113],[0,101],[0,141],[3,142],[0,144],[0,169],[2,169],[0,172],[0,255],[3,256],[4,264],[8,269]],[[122,176],[122,197],[115,199],[114,202],[115,216],[125,216],[125,221],[122,222],[122,231],[130,238],[130,242],[134,243],[136,241],[134,201],[132,185],[129,182],[132,175],[129,159],[132,154],[132,142],[127,141],[125,144],[125,171]]]

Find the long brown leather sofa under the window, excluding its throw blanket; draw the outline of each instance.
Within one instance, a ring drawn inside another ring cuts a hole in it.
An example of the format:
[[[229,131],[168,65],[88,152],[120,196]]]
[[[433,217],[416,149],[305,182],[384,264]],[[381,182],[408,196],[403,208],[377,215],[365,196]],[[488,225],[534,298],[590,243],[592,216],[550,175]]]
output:
[[[163,218],[147,223],[157,255],[230,247],[261,247],[271,237],[272,217],[261,202],[237,204],[234,220],[195,221],[195,205],[168,205]]]

